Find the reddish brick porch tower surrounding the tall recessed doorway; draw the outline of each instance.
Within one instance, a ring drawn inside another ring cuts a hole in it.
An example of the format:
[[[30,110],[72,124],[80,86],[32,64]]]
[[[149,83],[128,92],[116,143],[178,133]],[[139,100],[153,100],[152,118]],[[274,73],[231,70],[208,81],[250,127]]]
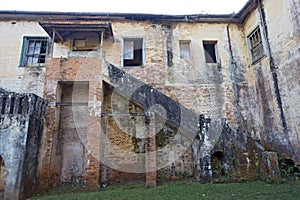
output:
[[[62,168],[61,164],[64,162],[63,157],[68,154],[61,154],[60,143],[60,129],[59,124],[65,124],[66,130],[70,131],[69,127],[71,124],[67,123],[67,120],[72,117],[74,123],[78,123],[78,127],[73,126],[72,131],[75,135],[78,134],[80,137],[80,143],[76,144],[83,145],[83,149],[87,150],[86,156],[81,163],[84,165],[85,177],[83,179],[87,180],[86,184],[88,188],[97,188],[99,184],[99,173],[100,173],[100,128],[101,128],[101,99],[102,99],[102,81],[99,80],[101,76],[101,65],[102,60],[99,58],[67,58],[67,59],[56,59],[52,58],[48,60],[47,63],[47,74],[46,74],[46,84],[45,84],[45,97],[48,98],[50,102],[50,107],[47,109],[46,121],[47,121],[47,132],[44,138],[44,151],[43,153],[43,164],[40,171],[41,186],[53,185],[61,182]],[[68,81],[74,82],[75,87],[73,87],[73,92],[80,95],[80,93],[86,93],[83,95],[83,99],[80,97],[76,98],[76,95],[72,95],[72,101],[87,101],[87,113],[85,111],[78,113],[74,110],[69,113],[73,116],[61,116],[62,110],[59,106],[56,106],[56,102],[61,100],[70,100],[71,96],[65,96],[66,99],[61,99],[61,91],[58,89],[59,82],[67,83]],[[87,88],[82,90],[76,89],[76,81],[84,81],[88,83]],[[78,93],[76,93],[76,90]],[[68,99],[69,98],[69,99]],[[77,114],[76,114],[77,113]],[[82,121],[82,114],[87,115],[87,118]],[[87,124],[83,125],[84,121]],[[85,127],[88,127],[86,129]],[[70,134],[72,134],[70,132]],[[67,138],[64,135],[63,138]],[[77,138],[78,139],[78,138]],[[78,141],[78,140],[76,140]],[[68,141],[70,142],[70,141]],[[64,145],[64,148],[67,148]],[[79,158],[78,158],[79,159]],[[78,161],[77,159],[77,161]],[[80,160],[79,159],[79,160]],[[86,160],[86,162],[85,162]],[[78,163],[77,163],[78,164]],[[66,166],[66,168],[68,168]],[[70,177],[63,180],[70,181]]]

